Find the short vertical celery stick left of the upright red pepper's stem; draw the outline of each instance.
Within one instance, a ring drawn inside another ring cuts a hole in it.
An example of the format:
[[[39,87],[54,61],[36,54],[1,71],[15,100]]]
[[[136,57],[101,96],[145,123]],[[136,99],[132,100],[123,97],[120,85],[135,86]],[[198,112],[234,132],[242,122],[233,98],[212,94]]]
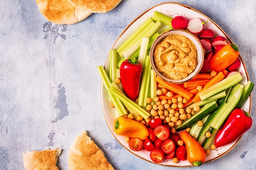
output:
[[[117,50],[111,49],[109,52],[110,57],[110,82],[114,82],[116,78],[116,69],[117,69]]]

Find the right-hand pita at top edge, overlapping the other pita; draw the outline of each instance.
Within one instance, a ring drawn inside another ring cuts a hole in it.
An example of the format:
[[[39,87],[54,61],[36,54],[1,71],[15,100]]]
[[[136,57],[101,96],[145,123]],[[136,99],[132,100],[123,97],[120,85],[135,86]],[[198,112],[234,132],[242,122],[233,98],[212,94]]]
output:
[[[121,0],[69,0],[76,8],[91,13],[106,13],[121,2]]]

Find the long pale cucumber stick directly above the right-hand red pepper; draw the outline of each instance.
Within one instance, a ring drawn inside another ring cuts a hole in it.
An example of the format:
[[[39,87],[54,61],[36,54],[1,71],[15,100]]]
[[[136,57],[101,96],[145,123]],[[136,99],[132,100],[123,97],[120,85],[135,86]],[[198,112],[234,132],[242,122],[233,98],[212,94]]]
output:
[[[224,103],[221,109],[218,111],[216,117],[213,119],[211,123],[211,127],[219,130],[224,121],[227,119],[231,111],[236,108],[241,96],[243,93],[243,85],[236,84],[227,99],[227,103]]]

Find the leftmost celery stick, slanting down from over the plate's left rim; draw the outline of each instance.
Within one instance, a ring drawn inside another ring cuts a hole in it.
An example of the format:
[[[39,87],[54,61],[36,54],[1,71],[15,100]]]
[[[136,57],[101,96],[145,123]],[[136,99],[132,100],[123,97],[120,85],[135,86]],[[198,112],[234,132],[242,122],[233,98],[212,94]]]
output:
[[[110,79],[108,78],[108,75],[106,73],[106,70],[104,69],[103,66],[98,66],[98,71],[99,75],[101,76],[101,80],[103,82],[103,85],[105,86],[106,90],[110,88]],[[126,109],[124,108],[124,105],[122,102],[115,96],[113,96],[111,93],[108,92],[108,95],[110,96],[110,100],[114,104],[117,112],[119,113],[120,116],[128,114]]]

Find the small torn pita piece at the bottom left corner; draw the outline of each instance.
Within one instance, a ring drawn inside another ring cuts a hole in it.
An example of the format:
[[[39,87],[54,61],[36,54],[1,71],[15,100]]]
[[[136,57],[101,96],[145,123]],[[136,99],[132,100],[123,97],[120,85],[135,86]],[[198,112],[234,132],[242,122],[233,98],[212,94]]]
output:
[[[25,170],[58,170],[56,163],[61,154],[61,148],[23,153]]]

